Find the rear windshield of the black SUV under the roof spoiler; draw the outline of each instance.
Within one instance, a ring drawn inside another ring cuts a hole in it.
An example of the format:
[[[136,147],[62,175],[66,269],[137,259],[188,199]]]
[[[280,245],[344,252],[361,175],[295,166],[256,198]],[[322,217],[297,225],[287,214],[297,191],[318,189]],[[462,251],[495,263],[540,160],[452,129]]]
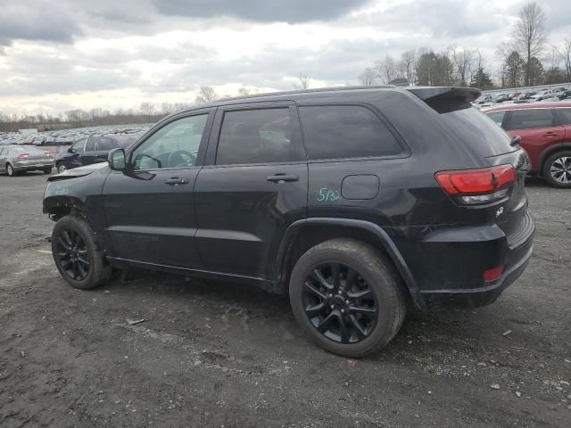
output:
[[[428,103],[440,113],[443,124],[457,136],[459,141],[470,144],[483,156],[514,152],[511,138],[503,129],[482,111],[470,103],[459,100],[442,100]]]

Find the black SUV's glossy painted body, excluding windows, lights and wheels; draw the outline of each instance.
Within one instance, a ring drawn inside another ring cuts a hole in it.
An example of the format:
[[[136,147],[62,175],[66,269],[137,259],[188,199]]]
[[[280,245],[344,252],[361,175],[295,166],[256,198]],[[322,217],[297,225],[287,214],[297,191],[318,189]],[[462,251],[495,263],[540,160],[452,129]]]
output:
[[[533,249],[525,152],[509,146],[509,137],[501,133],[479,144],[474,129],[462,133],[450,118],[442,118],[445,97],[464,103],[459,97],[473,91],[416,91],[310,91],[221,101],[206,110],[181,112],[142,136],[126,151],[127,159],[173,119],[208,111],[211,117],[194,167],[74,169],[50,177],[44,211],[56,218],[70,210],[83,212],[101,235],[107,258],[120,266],[254,281],[283,291],[297,252],[307,249],[304,244],[315,244],[319,237],[356,237],[393,260],[418,308],[490,303],[521,275]],[[431,94],[440,101],[429,105]],[[225,111],[287,108],[287,138],[304,153],[307,142],[298,108],[321,104],[366,106],[399,142],[401,152],[377,158],[308,161],[303,155],[303,161],[216,164]],[[494,138],[499,144],[493,144]],[[517,183],[504,199],[489,205],[459,206],[434,179],[441,170],[506,163],[517,169]],[[173,179],[184,184],[165,183]],[[503,275],[484,284],[484,270],[500,265],[505,265]]]

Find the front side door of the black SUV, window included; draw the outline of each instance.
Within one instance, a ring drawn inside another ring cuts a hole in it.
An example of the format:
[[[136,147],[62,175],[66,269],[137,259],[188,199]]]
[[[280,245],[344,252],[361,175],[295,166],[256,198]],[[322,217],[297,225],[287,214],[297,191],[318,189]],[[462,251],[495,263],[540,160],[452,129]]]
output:
[[[112,257],[201,268],[194,245],[193,187],[213,110],[171,119],[127,153],[128,172],[103,189]]]

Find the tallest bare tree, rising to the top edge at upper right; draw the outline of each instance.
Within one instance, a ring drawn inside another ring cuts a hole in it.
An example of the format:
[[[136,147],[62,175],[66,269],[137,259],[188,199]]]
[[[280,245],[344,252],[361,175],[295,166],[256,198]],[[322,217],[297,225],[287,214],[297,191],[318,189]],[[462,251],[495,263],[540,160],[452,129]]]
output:
[[[547,40],[542,6],[530,2],[521,8],[514,24],[513,39],[517,52],[525,61],[525,85],[531,86],[532,58],[541,56]]]

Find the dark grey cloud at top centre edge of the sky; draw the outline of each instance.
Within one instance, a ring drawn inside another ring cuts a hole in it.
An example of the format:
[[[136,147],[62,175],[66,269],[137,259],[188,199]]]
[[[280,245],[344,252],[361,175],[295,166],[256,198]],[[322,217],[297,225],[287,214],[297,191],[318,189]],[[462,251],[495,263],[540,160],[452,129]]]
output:
[[[231,16],[245,21],[329,21],[343,16],[369,0],[153,0],[166,15],[193,18]]]

